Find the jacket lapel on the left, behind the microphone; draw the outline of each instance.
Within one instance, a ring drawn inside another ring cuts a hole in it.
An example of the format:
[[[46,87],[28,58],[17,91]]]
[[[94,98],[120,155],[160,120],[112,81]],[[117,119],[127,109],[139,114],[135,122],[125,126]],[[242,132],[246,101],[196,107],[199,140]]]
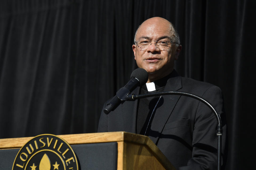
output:
[[[139,94],[140,87],[137,87],[131,94]],[[122,104],[122,121],[123,131],[136,132],[136,117],[137,117],[138,100],[125,101]]]

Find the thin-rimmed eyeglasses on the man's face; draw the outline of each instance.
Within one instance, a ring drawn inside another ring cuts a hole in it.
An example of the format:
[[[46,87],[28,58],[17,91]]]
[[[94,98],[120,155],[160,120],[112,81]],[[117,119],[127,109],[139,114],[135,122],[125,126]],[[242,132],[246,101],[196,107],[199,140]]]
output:
[[[140,42],[135,41],[135,43],[137,43],[137,45],[141,51],[147,49],[150,45],[152,45],[152,41],[140,41]],[[169,48],[170,46],[168,46],[168,45],[178,44],[178,43],[175,43],[172,41],[163,41],[163,40],[154,41],[153,43],[155,43],[155,45],[157,45],[162,50],[166,50],[166,48]]]

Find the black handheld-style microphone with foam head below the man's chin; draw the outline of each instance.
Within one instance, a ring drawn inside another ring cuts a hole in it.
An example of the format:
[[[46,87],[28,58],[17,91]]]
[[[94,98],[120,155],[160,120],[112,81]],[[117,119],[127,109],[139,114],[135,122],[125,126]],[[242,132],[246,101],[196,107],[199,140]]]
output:
[[[129,95],[136,87],[145,84],[148,78],[149,75],[147,74],[146,70],[142,68],[135,69],[131,73],[130,81],[117,91],[117,95],[115,95],[107,104],[106,108],[104,109],[104,113],[109,114],[109,112],[116,108],[120,103],[128,100],[126,99],[126,96]]]

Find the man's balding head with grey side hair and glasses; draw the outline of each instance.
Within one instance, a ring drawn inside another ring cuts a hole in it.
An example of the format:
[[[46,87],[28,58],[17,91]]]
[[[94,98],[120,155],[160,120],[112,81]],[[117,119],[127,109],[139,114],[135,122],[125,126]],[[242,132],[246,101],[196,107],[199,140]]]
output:
[[[178,60],[182,46],[169,21],[160,17],[147,19],[137,29],[134,40],[134,59],[139,68],[148,72],[148,83],[173,71],[174,60]]]

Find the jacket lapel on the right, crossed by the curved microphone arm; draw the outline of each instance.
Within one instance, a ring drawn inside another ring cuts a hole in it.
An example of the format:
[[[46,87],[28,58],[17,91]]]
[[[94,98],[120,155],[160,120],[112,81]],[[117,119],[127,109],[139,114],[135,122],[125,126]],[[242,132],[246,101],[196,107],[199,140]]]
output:
[[[182,88],[182,79],[180,76],[173,77],[167,80],[164,91],[177,91]],[[163,127],[165,126],[168,118],[170,117],[180,95],[165,95],[162,96],[163,105],[156,109],[155,116],[151,123],[149,131],[149,138],[156,143]]]

